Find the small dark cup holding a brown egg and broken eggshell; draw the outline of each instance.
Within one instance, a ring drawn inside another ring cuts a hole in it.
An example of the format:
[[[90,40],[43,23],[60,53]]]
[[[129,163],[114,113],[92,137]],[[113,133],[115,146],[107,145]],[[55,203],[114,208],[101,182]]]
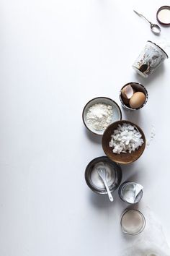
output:
[[[133,93],[126,97],[124,90],[130,86],[133,89]],[[127,110],[138,110],[143,108],[148,101],[148,91],[146,88],[138,82],[128,82],[120,90],[120,102],[122,106]]]

